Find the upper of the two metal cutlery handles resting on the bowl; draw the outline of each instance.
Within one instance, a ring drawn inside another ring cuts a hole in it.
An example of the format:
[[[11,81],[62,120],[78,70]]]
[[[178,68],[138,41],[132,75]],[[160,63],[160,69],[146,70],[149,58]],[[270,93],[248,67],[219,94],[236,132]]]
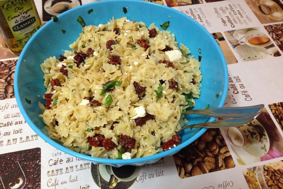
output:
[[[254,115],[259,113],[264,108],[263,104],[254,106],[243,106],[243,107],[220,107],[204,110],[188,110],[185,114],[199,114],[208,115],[212,117],[222,117],[222,118],[241,118],[249,115]],[[210,122],[211,123],[211,122]]]

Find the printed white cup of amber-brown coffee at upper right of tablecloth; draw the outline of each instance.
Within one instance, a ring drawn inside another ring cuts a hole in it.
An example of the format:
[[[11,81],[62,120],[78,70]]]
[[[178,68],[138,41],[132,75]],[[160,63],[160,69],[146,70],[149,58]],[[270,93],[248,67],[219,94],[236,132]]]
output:
[[[246,32],[246,35],[241,38],[239,44],[247,44],[251,47],[266,47],[272,44],[272,41],[263,32],[252,29]]]

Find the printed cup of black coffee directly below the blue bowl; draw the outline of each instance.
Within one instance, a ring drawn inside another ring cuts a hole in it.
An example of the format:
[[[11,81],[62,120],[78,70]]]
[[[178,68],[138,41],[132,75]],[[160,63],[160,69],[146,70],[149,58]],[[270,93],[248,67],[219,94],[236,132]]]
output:
[[[108,186],[109,188],[114,188],[119,180],[123,182],[134,180],[139,175],[141,167],[134,165],[112,167],[110,165],[106,165],[106,170],[110,175]]]

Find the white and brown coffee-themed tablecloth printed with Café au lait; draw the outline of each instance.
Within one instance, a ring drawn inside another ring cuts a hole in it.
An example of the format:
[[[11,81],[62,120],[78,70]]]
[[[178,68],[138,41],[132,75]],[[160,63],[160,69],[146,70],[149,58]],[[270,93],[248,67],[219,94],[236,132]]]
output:
[[[150,1],[190,16],[213,35],[229,72],[224,106],[264,104],[262,113],[243,126],[208,129],[177,154],[152,164],[122,169],[93,164],[55,149],[29,128],[14,96],[18,57],[0,38],[0,189],[11,183],[14,189],[283,188],[282,1]],[[35,4],[45,23],[90,2]]]

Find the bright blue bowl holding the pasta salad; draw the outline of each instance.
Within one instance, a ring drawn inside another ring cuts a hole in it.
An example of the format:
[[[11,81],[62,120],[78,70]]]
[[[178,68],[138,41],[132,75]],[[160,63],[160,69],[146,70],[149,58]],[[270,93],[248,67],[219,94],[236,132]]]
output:
[[[123,7],[127,9],[126,14],[123,12]],[[93,12],[88,14],[90,9],[93,9]],[[210,104],[210,108],[222,107],[226,98],[228,71],[224,56],[210,33],[195,20],[175,9],[145,1],[106,0],[90,3],[60,14],[57,22],[51,20],[43,25],[28,41],[19,57],[14,76],[16,100],[24,119],[42,139],[55,148],[75,157],[119,167],[126,164],[139,166],[156,162],[162,157],[180,151],[206,131],[204,128],[188,129],[182,133],[182,143],[179,146],[149,157],[135,159],[91,157],[67,149],[57,141],[50,139],[42,119],[38,117],[41,113],[38,102],[45,103],[42,96],[46,91],[42,81],[43,73],[40,64],[50,56],[59,57],[63,50],[68,50],[69,45],[79,37],[79,33],[82,32],[82,26],[77,22],[79,16],[84,19],[86,25],[105,24],[112,17],[117,19],[125,16],[129,20],[143,21],[148,26],[151,23],[159,26],[170,21],[170,27],[167,30],[175,34],[176,41],[185,44],[196,58],[202,57],[200,68],[203,75],[201,95],[196,100],[194,109],[204,109],[208,104]],[[66,31],[65,34],[62,33],[62,30]],[[218,98],[215,97],[216,94],[219,94]],[[31,104],[28,104],[25,98],[31,100]],[[189,124],[205,122],[208,119],[207,116],[196,115],[190,115],[187,118]],[[213,120],[215,118],[210,118],[208,121]]]

